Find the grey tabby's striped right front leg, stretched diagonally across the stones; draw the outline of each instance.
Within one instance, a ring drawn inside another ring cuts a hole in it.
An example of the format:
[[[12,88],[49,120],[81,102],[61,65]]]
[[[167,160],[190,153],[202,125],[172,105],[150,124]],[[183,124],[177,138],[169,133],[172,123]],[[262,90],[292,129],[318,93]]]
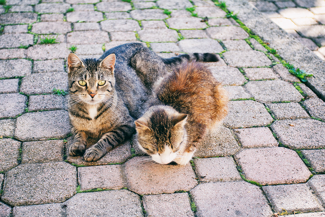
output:
[[[105,133],[96,144],[86,150],[85,161],[97,161],[108,151],[129,139],[134,132],[135,126],[123,125]]]

